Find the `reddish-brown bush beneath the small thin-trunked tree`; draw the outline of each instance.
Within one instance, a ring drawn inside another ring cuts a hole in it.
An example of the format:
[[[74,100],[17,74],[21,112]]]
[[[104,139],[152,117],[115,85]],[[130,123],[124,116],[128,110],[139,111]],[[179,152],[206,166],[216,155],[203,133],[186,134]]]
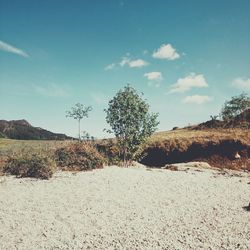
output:
[[[105,158],[89,143],[73,143],[59,148],[55,160],[62,170],[91,170],[102,168]]]

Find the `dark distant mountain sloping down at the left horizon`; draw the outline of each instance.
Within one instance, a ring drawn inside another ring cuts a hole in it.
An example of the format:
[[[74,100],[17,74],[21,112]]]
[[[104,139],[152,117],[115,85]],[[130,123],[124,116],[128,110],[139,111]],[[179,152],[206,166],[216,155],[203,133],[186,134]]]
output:
[[[0,138],[19,140],[66,140],[72,139],[65,134],[52,133],[48,130],[33,127],[26,120],[0,120]]]

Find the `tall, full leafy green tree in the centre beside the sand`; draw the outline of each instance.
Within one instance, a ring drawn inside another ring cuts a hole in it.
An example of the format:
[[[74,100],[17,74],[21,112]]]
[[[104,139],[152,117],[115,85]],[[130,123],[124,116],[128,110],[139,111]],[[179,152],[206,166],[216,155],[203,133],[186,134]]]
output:
[[[115,134],[125,166],[159,124],[158,114],[149,113],[149,104],[141,95],[134,88],[126,86],[109,101],[108,109],[104,110],[111,127],[108,132]]]

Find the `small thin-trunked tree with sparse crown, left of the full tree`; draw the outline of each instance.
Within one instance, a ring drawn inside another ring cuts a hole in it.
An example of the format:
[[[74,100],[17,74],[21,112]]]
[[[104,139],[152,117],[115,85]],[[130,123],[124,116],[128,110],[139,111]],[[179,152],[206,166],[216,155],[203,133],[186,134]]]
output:
[[[78,139],[81,140],[81,120],[89,116],[92,110],[91,106],[84,107],[83,104],[77,103],[70,111],[66,111],[66,117],[72,117],[78,121]]]

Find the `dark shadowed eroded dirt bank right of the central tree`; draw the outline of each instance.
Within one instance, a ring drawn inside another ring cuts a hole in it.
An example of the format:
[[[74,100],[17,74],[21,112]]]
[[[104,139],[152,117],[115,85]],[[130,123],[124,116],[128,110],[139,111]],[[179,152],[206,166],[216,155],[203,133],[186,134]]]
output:
[[[187,143],[169,140],[145,148],[141,163],[162,167],[166,164],[206,161],[213,167],[250,170],[250,146],[240,140],[204,140]]]

